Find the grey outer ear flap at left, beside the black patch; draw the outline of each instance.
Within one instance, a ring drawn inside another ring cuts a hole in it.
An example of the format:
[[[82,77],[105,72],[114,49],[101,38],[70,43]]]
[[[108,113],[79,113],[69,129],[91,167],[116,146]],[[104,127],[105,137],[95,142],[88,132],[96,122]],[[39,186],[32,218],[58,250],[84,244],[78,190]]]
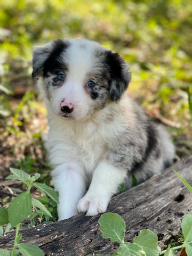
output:
[[[51,47],[48,45],[43,47],[37,47],[33,51],[33,72],[32,77],[38,79],[39,75],[43,71],[44,63],[49,58]]]

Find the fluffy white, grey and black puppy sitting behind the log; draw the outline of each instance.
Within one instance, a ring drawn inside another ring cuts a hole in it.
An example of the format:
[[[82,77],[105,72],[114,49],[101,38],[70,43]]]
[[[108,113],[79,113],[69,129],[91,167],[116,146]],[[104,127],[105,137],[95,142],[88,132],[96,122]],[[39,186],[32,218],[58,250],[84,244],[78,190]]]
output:
[[[171,164],[169,134],[126,94],[131,73],[117,53],[84,39],[52,41],[34,51],[32,75],[47,108],[59,220],[105,212],[119,185]]]

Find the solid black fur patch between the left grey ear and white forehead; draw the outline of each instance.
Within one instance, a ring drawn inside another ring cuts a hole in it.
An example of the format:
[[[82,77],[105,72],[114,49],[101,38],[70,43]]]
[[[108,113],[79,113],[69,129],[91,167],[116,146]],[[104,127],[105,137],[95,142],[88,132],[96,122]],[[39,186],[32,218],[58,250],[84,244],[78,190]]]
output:
[[[51,51],[49,57],[44,62],[43,67],[43,75],[46,76],[47,73],[50,71],[51,73],[54,73],[55,70],[58,70],[58,68],[61,68],[63,66],[63,63],[60,61],[60,54],[65,51],[68,47],[68,43],[64,42],[60,39],[53,41],[54,48]]]

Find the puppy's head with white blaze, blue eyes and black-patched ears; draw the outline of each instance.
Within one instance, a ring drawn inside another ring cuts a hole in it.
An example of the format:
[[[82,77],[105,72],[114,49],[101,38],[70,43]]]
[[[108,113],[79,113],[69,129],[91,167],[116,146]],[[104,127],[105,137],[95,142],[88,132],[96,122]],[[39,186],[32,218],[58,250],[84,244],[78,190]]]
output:
[[[53,113],[72,119],[90,117],[117,102],[131,80],[129,67],[117,53],[84,39],[38,47],[32,76],[41,80]]]

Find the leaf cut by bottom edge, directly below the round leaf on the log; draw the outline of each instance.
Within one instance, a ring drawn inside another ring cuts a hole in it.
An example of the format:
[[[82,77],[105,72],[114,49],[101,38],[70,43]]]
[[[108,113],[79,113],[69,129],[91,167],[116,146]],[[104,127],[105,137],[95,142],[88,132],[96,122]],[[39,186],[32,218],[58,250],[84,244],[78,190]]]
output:
[[[146,256],[139,244],[123,243],[117,249],[118,256]]]

